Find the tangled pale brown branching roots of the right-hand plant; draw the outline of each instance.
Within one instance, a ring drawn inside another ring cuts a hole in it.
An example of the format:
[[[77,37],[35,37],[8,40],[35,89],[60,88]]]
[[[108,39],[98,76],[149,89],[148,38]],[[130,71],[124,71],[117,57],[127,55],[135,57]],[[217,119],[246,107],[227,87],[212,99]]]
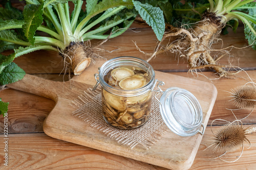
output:
[[[236,75],[239,71],[230,72],[230,65],[226,66],[218,63],[220,58],[229,55],[229,52],[226,50],[213,50],[211,48],[211,45],[218,40],[223,26],[224,24],[221,22],[221,19],[215,16],[215,13],[206,12],[202,20],[197,22],[194,29],[185,30],[181,28],[174,33],[165,33],[162,41],[157,44],[154,53],[146,54],[150,56],[147,62],[160,53],[171,52],[184,57],[189,63],[189,71],[191,72],[197,72],[197,69],[209,67],[213,68],[219,77]],[[166,46],[162,45],[167,37],[178,35],[181,37],[174,42],[168,43]],[[213,55],[215,51],[221,52],[220,57]],[[226,69],[227,67],[229,69]]]

